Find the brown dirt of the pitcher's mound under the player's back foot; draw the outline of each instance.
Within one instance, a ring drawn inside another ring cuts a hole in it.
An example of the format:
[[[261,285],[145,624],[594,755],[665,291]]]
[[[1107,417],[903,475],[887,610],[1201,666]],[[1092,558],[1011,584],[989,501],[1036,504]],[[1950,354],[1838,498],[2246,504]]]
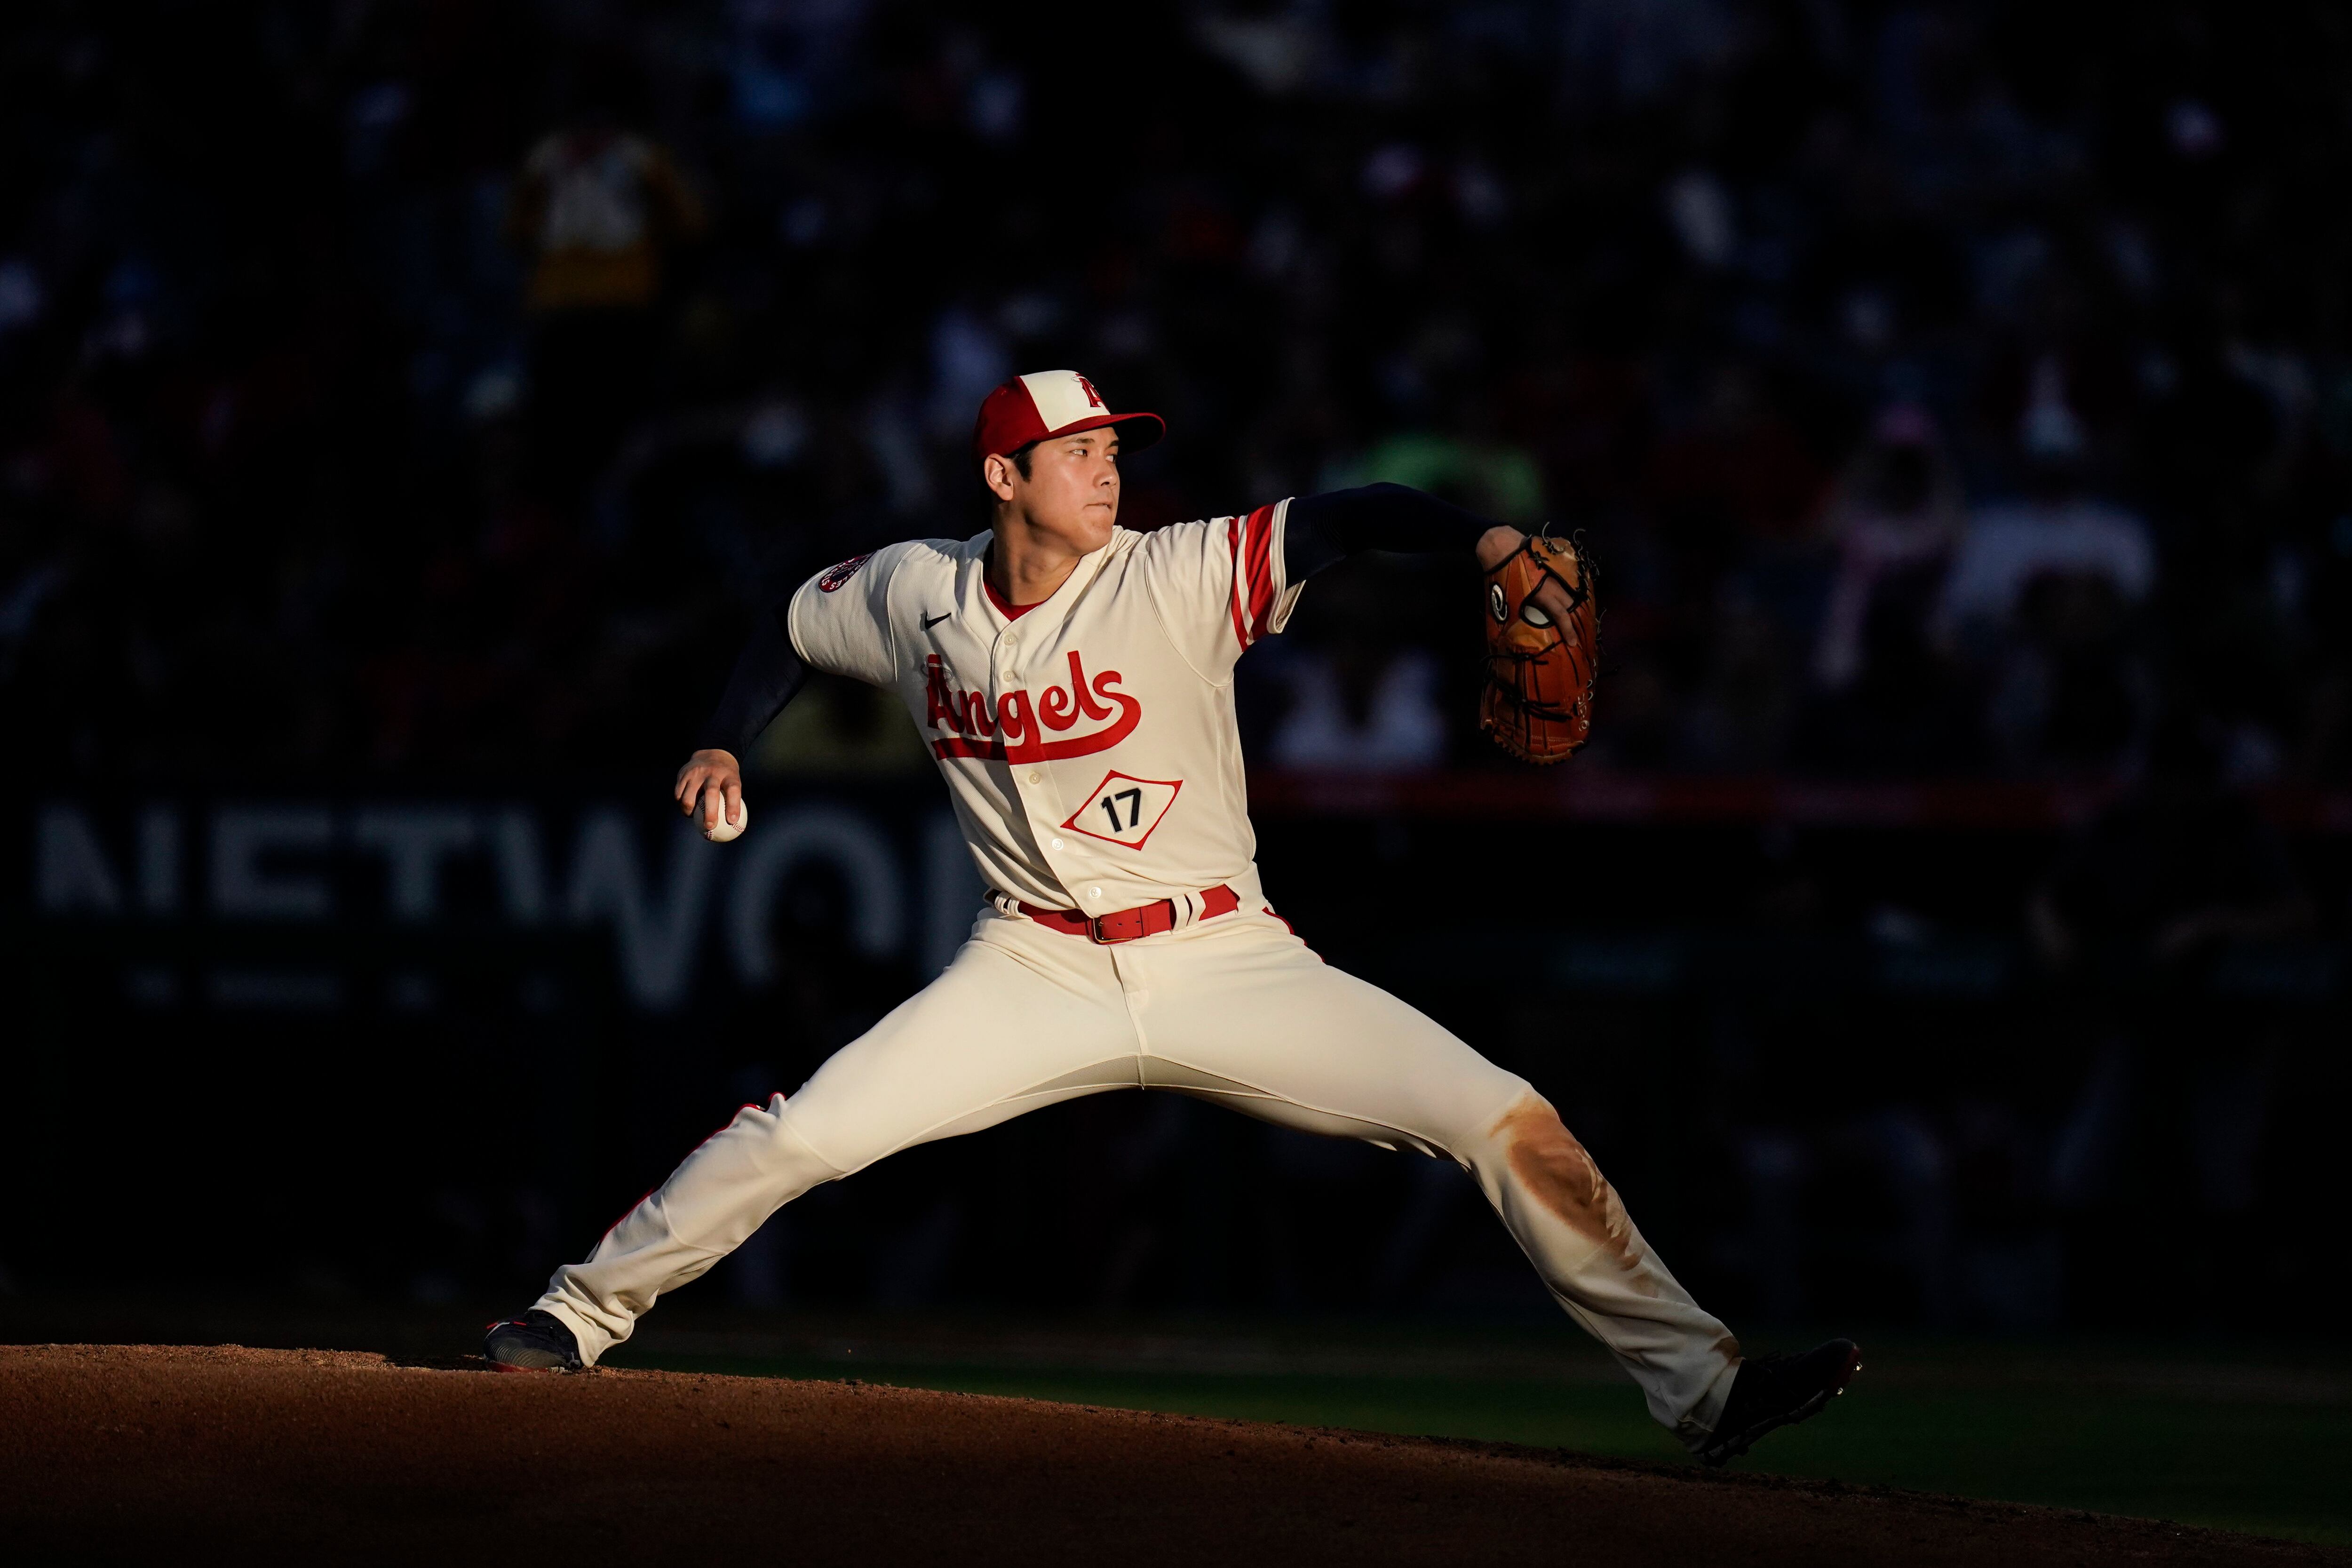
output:
[[[840,1382],[0,1347],[0,1556],[2343,1563],[2129,1519]]]

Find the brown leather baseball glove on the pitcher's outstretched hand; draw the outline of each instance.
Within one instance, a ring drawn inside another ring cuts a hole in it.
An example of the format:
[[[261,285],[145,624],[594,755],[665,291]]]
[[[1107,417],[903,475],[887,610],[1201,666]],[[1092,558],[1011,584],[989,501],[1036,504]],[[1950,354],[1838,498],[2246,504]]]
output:
[[[1564,762],[1592,733],[1597,621],[1592,567],[1564,538],[1529,536],[1486,574],[1477,722],[1512,757]]]

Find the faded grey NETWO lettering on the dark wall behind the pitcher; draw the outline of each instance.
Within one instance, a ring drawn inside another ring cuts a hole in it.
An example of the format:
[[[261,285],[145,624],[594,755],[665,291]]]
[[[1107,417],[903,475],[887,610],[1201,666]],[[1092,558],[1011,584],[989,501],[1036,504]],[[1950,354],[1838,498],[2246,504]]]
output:
[[[670,1013],[717,976],[760,987],[774,910],[826,877],[849,945],[936,973],[983,889],[955,820],[929,792],[760,797],[750,832],[706,844],[659,792],[461,797],[386,792],[158,792],[129,802],[35,799],[24,907],[42,926],[195,938],[235,933],[247,961],[139,973],[151,1001],[315,1006],[348,1001],[332,973],[270,973],[268,933],[390,933],[452,943],[503,933],[604,933],[619,992]],[[315,950],[315,943],[303,943]]]

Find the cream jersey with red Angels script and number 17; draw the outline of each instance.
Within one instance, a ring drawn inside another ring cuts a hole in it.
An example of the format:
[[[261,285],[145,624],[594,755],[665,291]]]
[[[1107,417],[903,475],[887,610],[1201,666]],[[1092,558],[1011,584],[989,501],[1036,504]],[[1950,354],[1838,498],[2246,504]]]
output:
[[[1287,510],[1115,529],[1018,618],[985,590],[990,534],[920,538],[809,578],[786,625],[811,668],[898,691],[990,889],[1084,914],[1183,898],[1256,856],[1232,665],[1298,599]]]

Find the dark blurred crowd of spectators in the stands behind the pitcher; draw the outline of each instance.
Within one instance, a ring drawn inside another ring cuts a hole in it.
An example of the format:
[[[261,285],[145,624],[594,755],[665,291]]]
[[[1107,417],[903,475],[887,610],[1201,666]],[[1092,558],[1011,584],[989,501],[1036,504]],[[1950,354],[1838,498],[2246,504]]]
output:
[[[673,757],[757,607],[1397,480],[1581,531],[1595,755],[2352,776],[2352,35],[1987,0],[33,0],[0,24],[0,724],[61,771]],[[1489,764],[1470,567],[1352,564],[1265,762]],[[774,762],[920,766],[821,689]]]

